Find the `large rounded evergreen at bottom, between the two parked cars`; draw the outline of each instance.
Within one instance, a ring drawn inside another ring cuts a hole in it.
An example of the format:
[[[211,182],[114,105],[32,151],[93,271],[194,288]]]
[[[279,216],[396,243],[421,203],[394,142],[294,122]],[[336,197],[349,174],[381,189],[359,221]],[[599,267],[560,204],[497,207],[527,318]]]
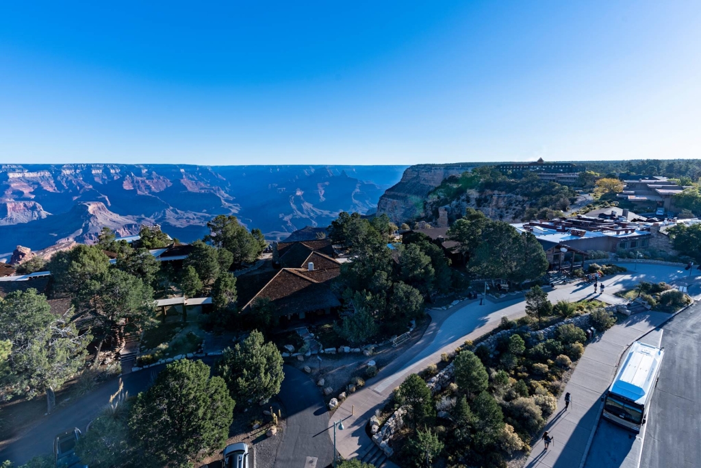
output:
[[[189,467],[200,451],[224,448],[235,402],[221,377],[202,361],[168,364],[132,406],[129,427],[147,467]]]

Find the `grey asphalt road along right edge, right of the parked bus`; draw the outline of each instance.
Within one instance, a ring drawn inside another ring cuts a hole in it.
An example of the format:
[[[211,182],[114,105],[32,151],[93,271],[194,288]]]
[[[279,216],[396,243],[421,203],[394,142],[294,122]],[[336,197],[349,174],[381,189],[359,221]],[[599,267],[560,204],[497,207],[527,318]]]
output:
[[[665,359],[653,395],[641,467],[701,466],[701,305],[663,327]]]

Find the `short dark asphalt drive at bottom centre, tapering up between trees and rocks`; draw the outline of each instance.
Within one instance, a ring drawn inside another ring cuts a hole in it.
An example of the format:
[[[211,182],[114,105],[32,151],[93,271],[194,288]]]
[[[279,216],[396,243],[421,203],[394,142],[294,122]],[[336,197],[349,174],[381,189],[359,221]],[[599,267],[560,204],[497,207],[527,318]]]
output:
[[[285,366],[285,380],[279,396],[287,409],[287,421],[275,467],[309,467],[307,457],[315,461],[317,468],[329,466],[334,447],[329,439],[329,417],[319,389],[301,370]]]

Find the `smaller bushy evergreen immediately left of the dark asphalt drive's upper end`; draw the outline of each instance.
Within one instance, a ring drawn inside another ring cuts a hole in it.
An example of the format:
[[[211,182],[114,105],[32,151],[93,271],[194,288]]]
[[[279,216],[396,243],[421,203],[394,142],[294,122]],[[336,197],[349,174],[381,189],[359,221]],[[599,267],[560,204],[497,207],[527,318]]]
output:
[[[236,401],[262,401],[280,393],[283,383],[283,356],[263,334],[253,330],[241,343],[224,349],[216,365]]]

